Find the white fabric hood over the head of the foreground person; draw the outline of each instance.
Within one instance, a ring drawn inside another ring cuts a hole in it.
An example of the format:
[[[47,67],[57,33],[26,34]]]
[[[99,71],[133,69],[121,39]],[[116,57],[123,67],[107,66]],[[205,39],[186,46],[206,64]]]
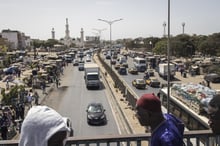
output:
[[[47,146],[56,132],[69,130],[63,117],[55,110],[33,106],[22,123],[19,146]]]

